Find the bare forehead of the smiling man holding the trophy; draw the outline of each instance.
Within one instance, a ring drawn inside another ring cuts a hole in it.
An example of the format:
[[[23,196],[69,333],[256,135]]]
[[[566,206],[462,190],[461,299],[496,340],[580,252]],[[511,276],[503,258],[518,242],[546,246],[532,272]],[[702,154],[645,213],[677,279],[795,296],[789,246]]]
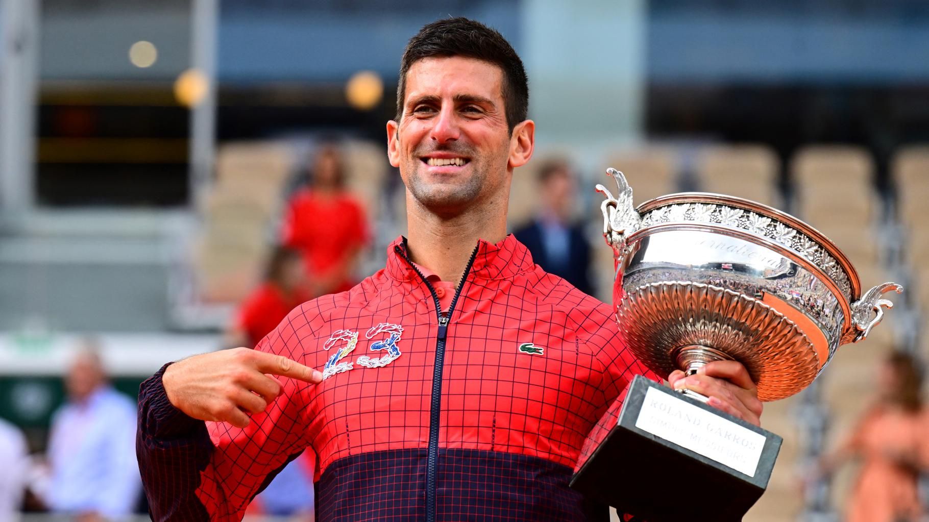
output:
[[[490,61],[466,57],[430,57],[412,63],[405,99],[479,96],[503,100],[504,72]]]

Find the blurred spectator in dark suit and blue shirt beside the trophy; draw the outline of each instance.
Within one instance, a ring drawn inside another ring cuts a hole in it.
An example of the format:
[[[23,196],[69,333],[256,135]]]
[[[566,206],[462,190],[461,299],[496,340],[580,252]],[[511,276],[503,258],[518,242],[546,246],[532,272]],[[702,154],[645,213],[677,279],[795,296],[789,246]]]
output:
[[[572,219],[574,175],[567,162],[553,160],[539,171],[539,215],[513,234],[526,245],[536,265],[564,278],[584,294],[593,294],[590,282],[590,242],[583,226]]]

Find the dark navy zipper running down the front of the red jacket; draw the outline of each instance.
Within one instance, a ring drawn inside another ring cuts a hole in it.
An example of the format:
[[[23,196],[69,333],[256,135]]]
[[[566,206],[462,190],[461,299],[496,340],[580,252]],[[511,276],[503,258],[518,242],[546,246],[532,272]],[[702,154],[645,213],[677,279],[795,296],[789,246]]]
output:
[[[404,241],[404,246],[406,243]],[[451,305],[449,306],[448,314],[442,313],[442,305],[438,301],[438,294],[436,290],[432,288],[432,284],[429,280],[425,279],[423,272],[416,268],[416,265],[413,265],[412,260],[406,254],[406,250],[400,248],[399,245],[394,247],[394,252],[403,256],[403,259],[406,259],[406,262],[410,264],[410,268],[416,272],[416,275],[419,276],[419,279],[425,282],[425,287],[429,289],[429,294],[432,294],[432,299],[436,303],[436,316],[438,317],[438,337],[436,339],[436,363],[435,368],[432,371],[432,403],[429,406],[429,445],[426,450],[426,460],[425,460],[425,520],[426,522],[435,522],[436,520],[436,467],[438,463],[438,423],[441,416],[441,407],[442,407],[442,367],[445,363],[445,340],[449,333],[449,320],[451,320],[451,312],[455,309],[455,304],[458,302],[458,296],[461,295],[462,289],[464,288],[464,281],[467,279],[468,272],[471,271],[471,266],[474,265],[474,260],[478,256],[478,249],[480,248],[480,242],[474,247],[474,252],[471,253],[471,258],[468,259],[467,267],[464,268],[464,274],[462,275],[461,281],[458,282],[458,288],[455,290],[454,297],[451,298]]]

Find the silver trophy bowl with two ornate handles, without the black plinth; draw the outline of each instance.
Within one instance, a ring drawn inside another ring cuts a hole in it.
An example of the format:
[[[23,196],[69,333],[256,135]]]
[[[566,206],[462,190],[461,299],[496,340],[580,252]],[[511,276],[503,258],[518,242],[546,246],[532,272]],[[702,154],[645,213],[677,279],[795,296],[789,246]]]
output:
[[[633,206],[621,172],[602,185],[613,248],[613,304],[626,345],[662,378],[723,359],[741,362],[758,398],[813,382],[839,346],[867,337],[893,304],[886,282],[861,294],[848,258],[792,215],[721,194],[682,192]]]

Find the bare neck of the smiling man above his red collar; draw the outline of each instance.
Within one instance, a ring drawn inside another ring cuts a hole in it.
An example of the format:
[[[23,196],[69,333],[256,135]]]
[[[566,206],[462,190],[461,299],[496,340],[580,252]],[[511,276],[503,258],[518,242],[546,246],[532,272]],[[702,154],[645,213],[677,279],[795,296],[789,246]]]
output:
[[[506,203],[476,205],[461,215],[439,216],[423,208],[407,191],[410,258],[442,281],[460,281],[478,240],[497,243],[506,237]]]

